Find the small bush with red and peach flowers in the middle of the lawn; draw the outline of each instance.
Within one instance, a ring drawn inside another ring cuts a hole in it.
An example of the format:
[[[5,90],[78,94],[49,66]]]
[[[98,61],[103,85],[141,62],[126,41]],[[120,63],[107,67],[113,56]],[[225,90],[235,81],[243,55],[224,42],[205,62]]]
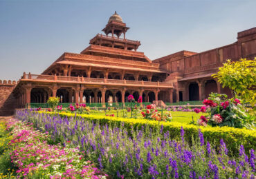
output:
[[[172,115],[170,112],[165,112],[165,114],[160,114],[156,109],[156,105],[147,105],[147,109],[141,112],[144,118],[148,120],[158,120],[158,121],[171,121]]]

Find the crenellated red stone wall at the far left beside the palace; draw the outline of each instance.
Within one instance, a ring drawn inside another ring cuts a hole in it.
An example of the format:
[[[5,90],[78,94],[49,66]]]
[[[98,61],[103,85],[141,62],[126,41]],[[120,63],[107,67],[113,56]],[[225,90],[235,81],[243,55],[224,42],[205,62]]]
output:
[[[13,89],[16,87],[16,81],[0,80],[0,116],[10,116],[15,112],[17,105]]]

